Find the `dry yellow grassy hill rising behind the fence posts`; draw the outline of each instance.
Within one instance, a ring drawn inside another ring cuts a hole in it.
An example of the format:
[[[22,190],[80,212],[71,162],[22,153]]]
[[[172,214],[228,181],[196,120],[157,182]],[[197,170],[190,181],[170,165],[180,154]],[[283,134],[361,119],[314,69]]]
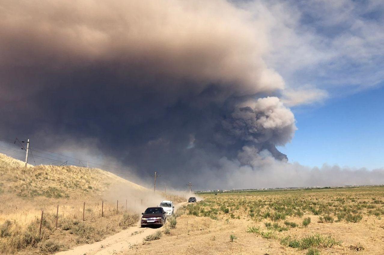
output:
[[[31,166],[0,153],[0,194],[18,197],[76,198],[101,196],[111,184],[142,186],[101,169],[77,166]]]

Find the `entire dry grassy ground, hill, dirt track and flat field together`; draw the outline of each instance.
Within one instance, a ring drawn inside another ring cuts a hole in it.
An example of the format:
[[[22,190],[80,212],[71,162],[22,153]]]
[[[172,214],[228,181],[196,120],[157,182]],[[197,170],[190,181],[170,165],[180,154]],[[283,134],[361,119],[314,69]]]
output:
[[[159,229],[137,222],[163,194],[100,169],[0,155],[0,188],[4,254],[384,254],[382,186],[201,194]]]

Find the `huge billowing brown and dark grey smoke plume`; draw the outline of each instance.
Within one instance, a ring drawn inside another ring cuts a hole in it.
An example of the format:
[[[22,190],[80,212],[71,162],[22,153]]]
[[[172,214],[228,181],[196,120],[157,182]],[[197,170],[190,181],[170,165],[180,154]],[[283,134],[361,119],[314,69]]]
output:
[[[247,10],[225,0],[0,7],[2,137],[100,151],[181,187],[256,187],[252,176],[287,165],[276,145],[295,118],[263,61],[268,24]]]

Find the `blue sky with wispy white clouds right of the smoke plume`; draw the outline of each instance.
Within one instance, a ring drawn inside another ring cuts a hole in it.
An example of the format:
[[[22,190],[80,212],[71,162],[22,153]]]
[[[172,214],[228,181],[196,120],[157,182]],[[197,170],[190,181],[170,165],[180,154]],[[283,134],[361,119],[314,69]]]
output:
[[[285,80],[282,99],[298,127],[279,150],[311,167],[384,167],[384,2],[266,5],[266,60]]]

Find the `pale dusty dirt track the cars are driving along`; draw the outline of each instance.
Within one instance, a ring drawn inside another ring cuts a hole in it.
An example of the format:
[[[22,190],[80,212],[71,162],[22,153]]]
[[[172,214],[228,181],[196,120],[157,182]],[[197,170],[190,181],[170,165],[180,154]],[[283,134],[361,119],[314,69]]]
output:
[[[186,203],[183,202],[175,205],[175,211]],[[137,222],[136,226],[111,235],[100,242],[81,245],[71,250],[56,253],[56,255],[110,255],[122,253],[133,248],[137,243],[141,243],[144,237],[153,234],[159,229],[162,228],[141,228],[140,222]]]

